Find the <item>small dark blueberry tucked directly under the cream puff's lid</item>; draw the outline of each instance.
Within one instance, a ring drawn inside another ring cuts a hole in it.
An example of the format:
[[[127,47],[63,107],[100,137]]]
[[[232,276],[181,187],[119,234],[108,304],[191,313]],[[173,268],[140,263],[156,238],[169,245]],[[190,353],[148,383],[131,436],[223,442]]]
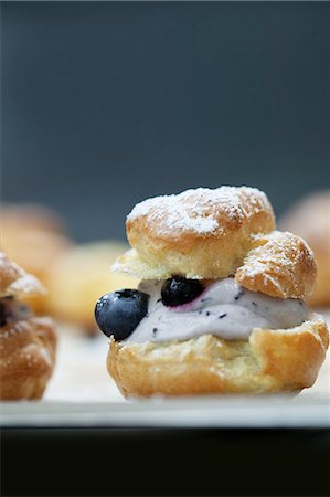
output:
[[[173,276],[163,283],[161,287],[161,299],[164,306],[180,306],[196,298],[203,289],[201,282],[198,279],[185,279],[182,276]]]

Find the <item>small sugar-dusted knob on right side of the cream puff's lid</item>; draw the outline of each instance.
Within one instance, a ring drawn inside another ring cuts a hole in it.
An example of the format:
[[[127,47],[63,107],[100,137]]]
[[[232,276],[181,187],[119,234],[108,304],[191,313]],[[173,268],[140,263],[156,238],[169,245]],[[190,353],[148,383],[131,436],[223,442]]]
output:
[[[316,260],[307,243],[292,233],[274,231],[255,237],[235,279],[270,297],[307,300],[316,276]]]

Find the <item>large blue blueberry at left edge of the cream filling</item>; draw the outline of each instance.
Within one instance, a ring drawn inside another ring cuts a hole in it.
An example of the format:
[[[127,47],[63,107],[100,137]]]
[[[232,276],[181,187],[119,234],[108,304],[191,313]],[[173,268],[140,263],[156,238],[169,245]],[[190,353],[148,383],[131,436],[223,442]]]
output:
[[[148,311],[149,295],[136,289],[120,289],[100,297],[95,307],[99,329],[115,340],[124,340]]]

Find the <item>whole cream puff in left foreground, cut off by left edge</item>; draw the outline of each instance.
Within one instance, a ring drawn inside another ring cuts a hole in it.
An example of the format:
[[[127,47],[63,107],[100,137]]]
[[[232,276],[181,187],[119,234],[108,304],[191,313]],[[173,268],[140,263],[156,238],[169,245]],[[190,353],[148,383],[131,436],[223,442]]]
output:
[[[39,281],[0,252],[0,400],[40,399],[52,376],[54,322],[21,300],[40,292]]]

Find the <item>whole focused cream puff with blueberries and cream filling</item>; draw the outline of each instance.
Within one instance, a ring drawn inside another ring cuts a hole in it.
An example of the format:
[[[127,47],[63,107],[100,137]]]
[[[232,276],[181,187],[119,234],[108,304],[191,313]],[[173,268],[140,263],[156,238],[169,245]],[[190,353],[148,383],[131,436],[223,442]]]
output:
[[[306,242],[276,231],[255,188],[148,199],[127,218],[131,250],[114,271],[138,289],[99,298],[107,368],[126,396],[265,393],[311,387],[329,335],[311,314],[317,266]]]

